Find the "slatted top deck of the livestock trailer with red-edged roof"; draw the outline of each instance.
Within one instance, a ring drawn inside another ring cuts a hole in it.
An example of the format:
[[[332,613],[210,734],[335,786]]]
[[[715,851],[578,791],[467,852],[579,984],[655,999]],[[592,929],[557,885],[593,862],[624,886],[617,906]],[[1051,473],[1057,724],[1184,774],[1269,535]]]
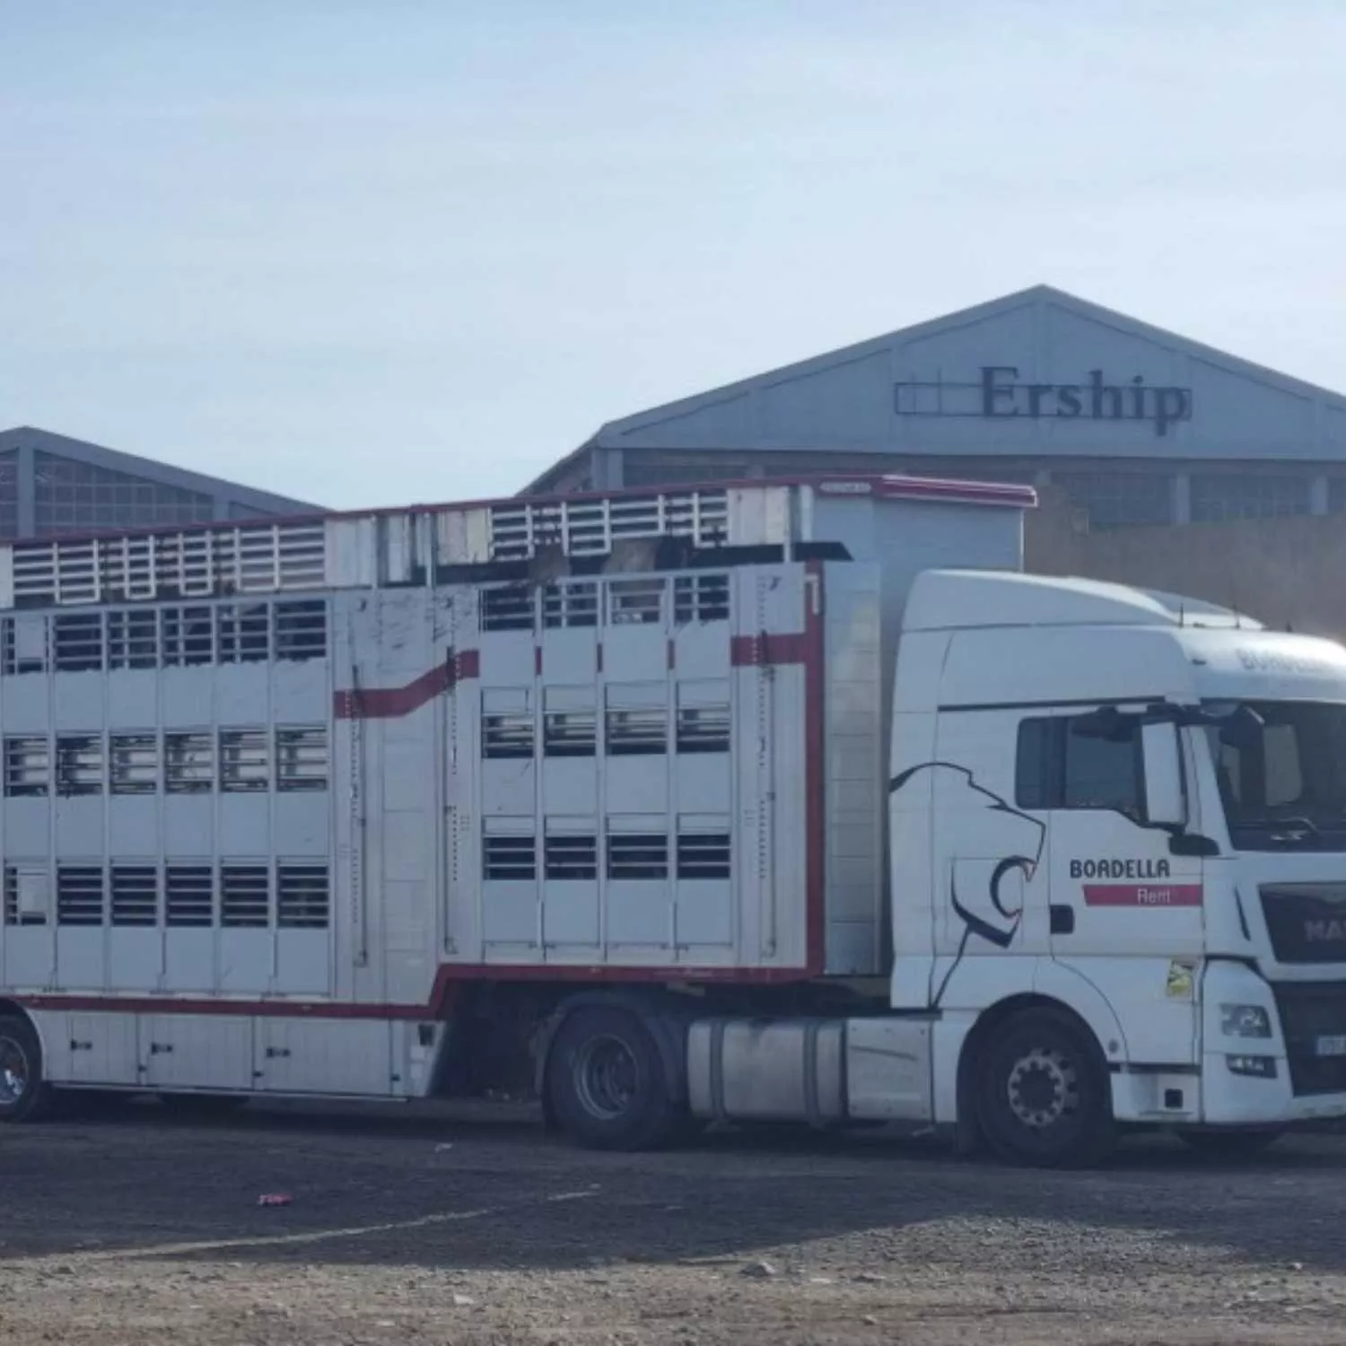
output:
[[[65,607],[377,588],[602,569],[627,546],[656,544],[716,564],[808,555],[845,538],[820,528],[821,498],[1031,509],[1031,487],[902,475],[716,482],[666,490],[517,497],[460,505],[202,524],[0,546],[0,608]]]

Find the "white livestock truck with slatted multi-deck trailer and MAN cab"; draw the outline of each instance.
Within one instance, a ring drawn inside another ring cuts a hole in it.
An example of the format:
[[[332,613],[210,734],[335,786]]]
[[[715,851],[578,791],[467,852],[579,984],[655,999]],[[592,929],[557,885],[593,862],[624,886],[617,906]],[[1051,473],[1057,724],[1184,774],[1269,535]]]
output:
[[[0,548],[0,1114],[1346,1114],[1346,651],[892,476]],[[956,568],[952,568],[956,567]]]

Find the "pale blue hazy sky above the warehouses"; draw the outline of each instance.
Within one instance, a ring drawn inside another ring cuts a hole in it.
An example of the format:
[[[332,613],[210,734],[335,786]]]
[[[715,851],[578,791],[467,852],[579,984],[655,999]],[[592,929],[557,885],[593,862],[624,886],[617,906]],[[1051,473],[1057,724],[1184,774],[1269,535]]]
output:
[[[1346,389],[1341,0],[0,0],[0,428],[334,506],[1047,281]]]

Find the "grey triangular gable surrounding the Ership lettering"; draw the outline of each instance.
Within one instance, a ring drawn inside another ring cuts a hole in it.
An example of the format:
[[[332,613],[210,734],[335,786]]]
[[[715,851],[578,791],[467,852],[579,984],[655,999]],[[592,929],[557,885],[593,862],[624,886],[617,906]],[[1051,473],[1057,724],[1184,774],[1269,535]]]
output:
[[[1043,334],[1050,334],[1050,339]],[[960,345],[966,351],[965,355],[960,354]],[[969,441],[973,432],[985,435],[985,423],[972,425],[965,421],[956,427],[946,421],[933,425],[930,421],[917,423],[913,417],[909,424],[899,427],[892,419],[894,385],[905,378],[965,378],[969,366],[995,362],[995,354],[987,358],[987,351],[1008,354],[1008,349],[1014,346],[1024,350],[1026,366],[1030,359],[1039,366],[1069,363],[1077,347],[1088,350],[1079,374],[1085,373],[1090,361],[1097,362],[1097,349],[1119,351],[1114,357],[1119,369],[1109,369],[1109,373],[1129,377],[1139,369],[1125,362],[1136,361],[1151,370],[1159,370],[1160,377],[1151,377],[1149,384],[1174,382],[1195,388],[1195,402],[1202,411],[1222,401],[1246,404],[1246,409],[1240,408],[1240,413],[1230,417],[1236,428],[1233,436],[1207,413],[1202,417],[1201,429],[1183,427],[1182,433],[1168,436],[1159,444],[1133,440],[1131,447],[1077,447],[1075,452],[1084,455],[1254,458],[1261,456],[1264,446],[1265,456],[1272,458],[1346,456],[1346,397],[1342,394],[1190,341],[1051,285],[1034,285],[989,303],[607,421],[579,450],[544,474],[540,482],[551,479],[561,466],[592,448],[985,452],[985,446],[975,448]],[[973,353],[983,354],[979,359]],[[1023,380],[1053,381],[1044,377],[1046,373],[1046,367],[1024,367]],[[1061,376],[1061,381],[1070,382],[1074,377],[1071,370],[1069,376]],[[1077,429],[1078,425],[1077,421],[1066,429]],[[1004,424],[995,428],[999,432],[1004,429]],[[1028,427],[1020,423],[1012,429],[1026,432]],[[1283,435],[1281,443],[1267,443],[1268,439],[1275,440],[1277,433]],[[1246,447],[1241,447],[1240,440],[1246,440]],[[1015,448],[1030,454],[1035,451],[1026,444],[1011,443],[1005,443],[1004,448],[1011,452]]]

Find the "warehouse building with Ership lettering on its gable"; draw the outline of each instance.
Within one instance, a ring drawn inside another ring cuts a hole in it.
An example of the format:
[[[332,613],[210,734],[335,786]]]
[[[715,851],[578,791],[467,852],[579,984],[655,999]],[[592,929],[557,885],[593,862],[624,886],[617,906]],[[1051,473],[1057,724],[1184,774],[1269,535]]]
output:
[[[1077,526],[1346,510],[1346,397],[1039,285],[603,425],[529,489],[1030,482]]]

